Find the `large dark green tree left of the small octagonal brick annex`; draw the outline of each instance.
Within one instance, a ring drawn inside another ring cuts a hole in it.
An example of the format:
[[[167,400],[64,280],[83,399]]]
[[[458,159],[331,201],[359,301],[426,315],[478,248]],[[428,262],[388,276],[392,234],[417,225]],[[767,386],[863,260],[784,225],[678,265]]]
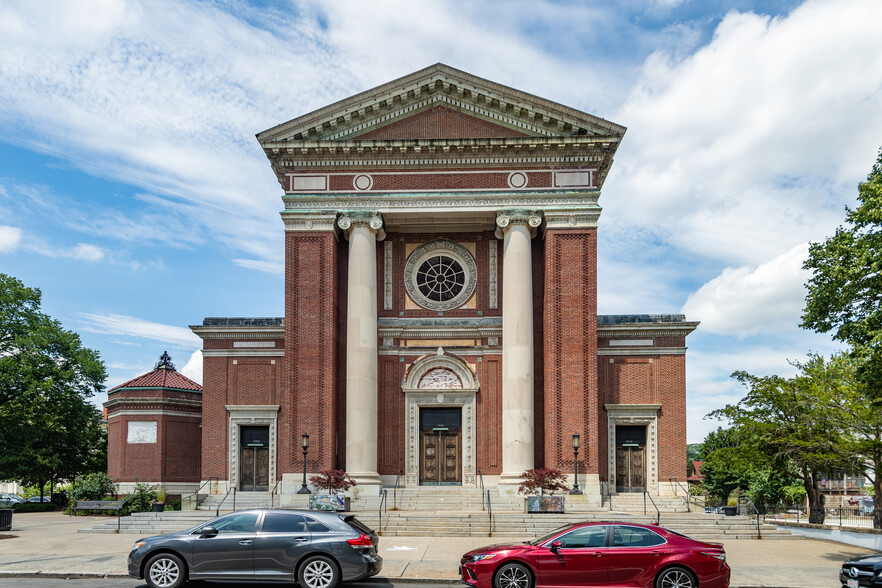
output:
[[[0,274],[0,479],[42,488],[106,471],[107,436],[88,398],[107,377],[98,353],[40,310],[39,289]]]

